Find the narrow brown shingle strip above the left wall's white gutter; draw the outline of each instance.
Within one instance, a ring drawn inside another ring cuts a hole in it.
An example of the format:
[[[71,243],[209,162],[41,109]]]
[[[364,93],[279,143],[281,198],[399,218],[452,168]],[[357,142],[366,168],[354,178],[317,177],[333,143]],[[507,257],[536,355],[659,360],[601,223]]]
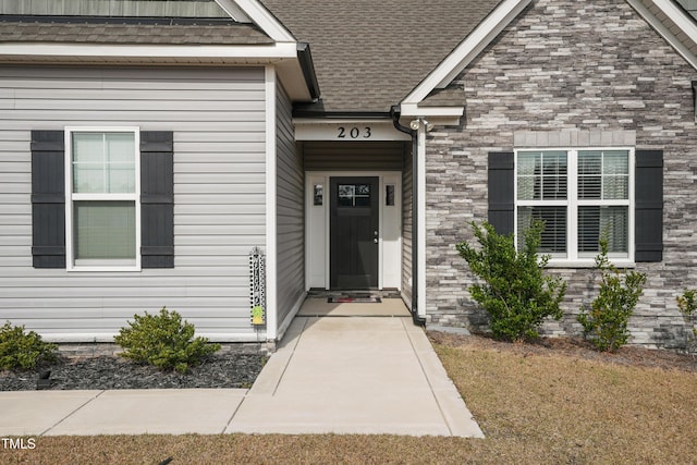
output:
[[[51,16],[0,16],[0,42],[267,45],[253,24],[225,21],[164,21]]]

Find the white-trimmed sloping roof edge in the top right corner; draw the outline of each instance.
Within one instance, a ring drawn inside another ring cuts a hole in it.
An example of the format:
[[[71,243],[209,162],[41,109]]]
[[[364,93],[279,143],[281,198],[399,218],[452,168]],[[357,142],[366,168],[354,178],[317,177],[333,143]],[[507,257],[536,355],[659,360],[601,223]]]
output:
[[[627,0],[627,3],[636,10],[637,13],[656,29],[657,33],[668,41],[695,70],[697,70],[697,57],[689,51],[689,47],[680,40],[675,35],[658,19],[651,11],[646,8],[641,0]],[[685,14],[673,4],[671,0],[653,0],[653,4],[668,16],[687,37],[697,40],[697,25],[685,16]]]

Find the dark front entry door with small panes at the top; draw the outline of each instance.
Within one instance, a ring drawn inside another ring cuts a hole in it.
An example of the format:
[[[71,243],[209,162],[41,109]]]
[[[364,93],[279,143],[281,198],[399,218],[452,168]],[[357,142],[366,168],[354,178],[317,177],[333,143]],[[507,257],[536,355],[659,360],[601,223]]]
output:
[[[378,178],[330,181],[331,289],[378,286]]]

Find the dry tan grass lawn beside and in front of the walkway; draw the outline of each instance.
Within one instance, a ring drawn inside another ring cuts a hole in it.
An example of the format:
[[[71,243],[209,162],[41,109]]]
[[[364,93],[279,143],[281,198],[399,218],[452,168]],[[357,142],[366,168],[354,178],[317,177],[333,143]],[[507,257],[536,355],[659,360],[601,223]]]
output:
[[[435,344],[487,439],[396,436],[38,438],[0,463],[634,464],[697,462],[697,372]]]

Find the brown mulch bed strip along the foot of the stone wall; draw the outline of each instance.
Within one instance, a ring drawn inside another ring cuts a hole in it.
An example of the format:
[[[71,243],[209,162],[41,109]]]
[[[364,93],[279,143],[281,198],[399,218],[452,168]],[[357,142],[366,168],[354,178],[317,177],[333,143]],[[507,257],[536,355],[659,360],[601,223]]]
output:
[[[461,335],[429,331],[431,341],[445,346],[466,346],[472,348],[509,351],[523,356],[563,355],[579,359],[604,362],[616,365],[643,368],[677,369],[697,371],[697,356],[668,350],[651,350],[625,345],[614,353],[598,352],[588,342],[579,338],[541,338],[535,342],[510,343],[491,339],[488,335]]]

